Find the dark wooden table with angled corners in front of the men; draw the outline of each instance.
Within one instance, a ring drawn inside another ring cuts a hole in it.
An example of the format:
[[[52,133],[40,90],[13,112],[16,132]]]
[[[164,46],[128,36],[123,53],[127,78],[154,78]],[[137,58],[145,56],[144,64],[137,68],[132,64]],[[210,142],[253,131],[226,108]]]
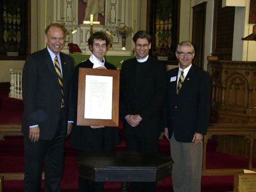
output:
[[[81,177],[122,182],[121,191],[128,191],[127,182],[156,182],[170,177],[173,160],[164,154],[110,152],[82,155],[77,163]]]

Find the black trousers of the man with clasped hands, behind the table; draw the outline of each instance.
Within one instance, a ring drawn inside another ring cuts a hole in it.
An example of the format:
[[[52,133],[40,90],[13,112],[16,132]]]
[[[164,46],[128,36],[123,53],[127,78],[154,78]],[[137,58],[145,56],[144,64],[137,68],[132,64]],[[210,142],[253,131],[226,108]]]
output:
[[[138,138],[136,136],[125,136],[127,151],[158,152],[159,138]],[[156,191],[156,182],[130,182],[131,192],[153,192]]]

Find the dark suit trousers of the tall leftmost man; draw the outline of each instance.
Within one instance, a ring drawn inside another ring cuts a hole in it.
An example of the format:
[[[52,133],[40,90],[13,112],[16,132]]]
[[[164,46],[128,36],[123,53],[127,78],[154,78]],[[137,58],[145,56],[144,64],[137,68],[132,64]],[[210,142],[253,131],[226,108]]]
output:
[[[60,191],[64,168],[66,128],[63,126],[65,110],[61,109],[60,122],[52,140],[33,142],[24,136],[25,178],[24,191],[41,191],[42,169],[45,164],[45,192]],[[39,127],[40,128],[40,127]]]

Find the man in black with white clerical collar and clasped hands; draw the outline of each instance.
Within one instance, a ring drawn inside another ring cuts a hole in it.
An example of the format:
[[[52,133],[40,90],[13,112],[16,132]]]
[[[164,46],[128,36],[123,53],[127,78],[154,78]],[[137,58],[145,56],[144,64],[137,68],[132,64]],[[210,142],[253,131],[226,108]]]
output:
[[[148,56],[151,36],[138,31],[133,37],[136,58],[122,65],[120,116],[124,120],[127,151],[158,152],[161,108],[166,90],[166,66]],[[155,182],[130,185],[131,191],[156,191]]]

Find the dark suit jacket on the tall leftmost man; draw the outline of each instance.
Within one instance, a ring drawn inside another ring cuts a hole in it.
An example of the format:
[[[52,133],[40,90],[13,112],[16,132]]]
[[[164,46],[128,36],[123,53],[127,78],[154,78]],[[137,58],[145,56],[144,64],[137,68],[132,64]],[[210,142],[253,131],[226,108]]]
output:
[[[74,71],[74,62],[60,52],[63,73],[63,90],[65,100],[64,126],[67,120],[73,120],[70,113],[69,89]],[[61,106],[61,90],[58,76],[47,48],[29,55],[22,74],[22,97],[24,113],[22,117],[22,133],[29,136],[29,126],[39,125],[40,139],[51,140],[56,132]]]

